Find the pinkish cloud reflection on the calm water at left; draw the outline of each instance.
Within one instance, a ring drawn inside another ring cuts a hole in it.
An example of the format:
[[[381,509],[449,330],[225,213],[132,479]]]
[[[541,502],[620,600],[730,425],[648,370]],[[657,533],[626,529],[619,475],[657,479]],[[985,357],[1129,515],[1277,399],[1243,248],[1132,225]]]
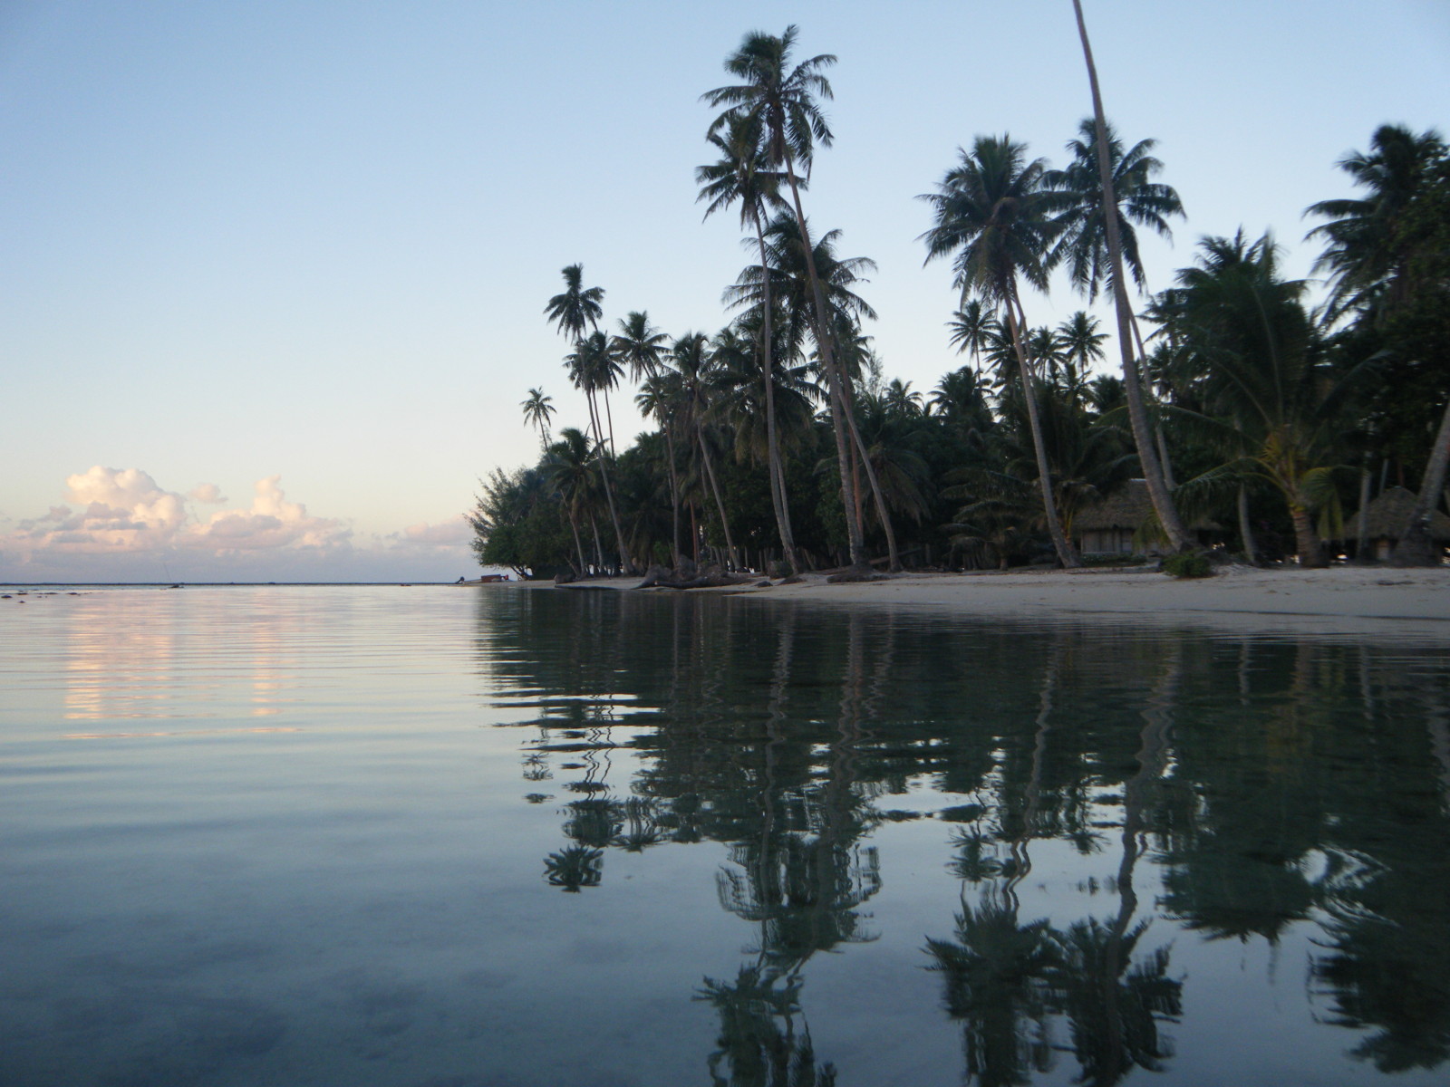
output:
[[[219,609],[138,609],[141,603],[141,591],[94,593],[68,617],[67,720],[268,717],[293,701],[284,678],[287,613],[254,609],[236,625],[219,622]]]

